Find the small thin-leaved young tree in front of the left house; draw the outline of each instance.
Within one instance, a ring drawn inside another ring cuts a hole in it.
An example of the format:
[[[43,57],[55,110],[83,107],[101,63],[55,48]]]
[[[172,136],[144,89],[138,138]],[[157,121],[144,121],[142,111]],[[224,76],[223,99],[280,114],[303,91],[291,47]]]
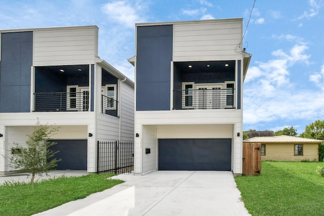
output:
[[[33,132],[26,141],[27,147],[22,147],[18,143],[13,144],[12,155],[10,156],[10,167],[20,169],[22,172],[29,172],[31,175],[30,184],[34,183],[35,175],[48,175],[48,171],[57,166],[57,160],[53,158],[58,151],[50,149],[55,145],[49,142],[51,135],[57,131],[57,128],[43,125],[37,120]]]

